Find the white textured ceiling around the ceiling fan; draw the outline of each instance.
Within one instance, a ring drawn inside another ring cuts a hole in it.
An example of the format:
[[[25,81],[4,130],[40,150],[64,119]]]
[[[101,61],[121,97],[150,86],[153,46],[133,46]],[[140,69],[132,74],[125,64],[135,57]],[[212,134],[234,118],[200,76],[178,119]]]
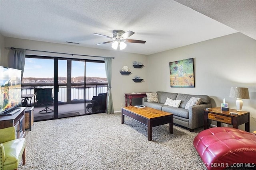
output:
[[[144,40],[146,43],[127,43],[122,51],[145,55],[238,31],[245,31],[248,36],[252,34],[252,38],[255,36],[256,30],[246,29],[240,24],[243,18],[248,21],[254,19],[248,11],[253,8],[255,0],[248,0],[250,4],[241,9],[246,11],[237,12],[243,14],[240,20],[236,20],[232,12],[241,7],[237,3],[233,6],[232,0],[176,1],[0,0],[0,33],[5,37],[62,44],[71,41],[80,43],[78,46],[82,47],[114,50],[111,43],[96,45],[110,39],[93,33],[112,37],[114,29],[131,30],[135,34],[129,39]],[[229,5],[222,6],[221,2]],[[220,7],[223,7],[222,10]],[[224,7],[230,10],[225,12]],[[248,27],[255,26],[246,24]]]

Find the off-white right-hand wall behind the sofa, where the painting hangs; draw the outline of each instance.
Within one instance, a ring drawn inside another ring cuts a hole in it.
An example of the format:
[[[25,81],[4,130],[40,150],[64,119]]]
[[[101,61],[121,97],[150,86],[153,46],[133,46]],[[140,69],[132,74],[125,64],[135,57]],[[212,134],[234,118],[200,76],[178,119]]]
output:
[[[171,88],[169,63],[194,58],[195,88]],[[249,88],[250,100],[243,100],[250,111],[251,131],[256,130],[256,40],[234,33],[216,39],[148,56],[148,90],[184,94],[206,94],[220,107],[223,98],[232,109],[231,86]],[[241,125],[241,129],[244,125]]]

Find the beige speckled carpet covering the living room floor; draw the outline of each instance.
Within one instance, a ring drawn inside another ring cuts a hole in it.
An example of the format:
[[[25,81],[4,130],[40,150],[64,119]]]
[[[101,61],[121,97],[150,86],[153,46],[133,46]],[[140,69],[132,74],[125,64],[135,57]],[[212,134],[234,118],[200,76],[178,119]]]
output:
[[[147,127],[121,114],[94,114],[35,122],[27,131],[26,164],[19,170],[204,170],[194,133],[168,124]]]

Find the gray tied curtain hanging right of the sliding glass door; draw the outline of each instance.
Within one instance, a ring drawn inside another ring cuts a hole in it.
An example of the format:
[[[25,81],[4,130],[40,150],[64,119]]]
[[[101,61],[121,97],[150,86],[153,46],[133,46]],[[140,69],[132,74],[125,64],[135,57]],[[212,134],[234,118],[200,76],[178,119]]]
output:
[[[111,92],[111,79],[112,79],[112,58],[110,57],[104,57],[105,61],[105,70],[108,80],[108,96],[107,96],[107,114],[114,113],[114,107],[113,107],[113,101],[112,101],[112,92]]]

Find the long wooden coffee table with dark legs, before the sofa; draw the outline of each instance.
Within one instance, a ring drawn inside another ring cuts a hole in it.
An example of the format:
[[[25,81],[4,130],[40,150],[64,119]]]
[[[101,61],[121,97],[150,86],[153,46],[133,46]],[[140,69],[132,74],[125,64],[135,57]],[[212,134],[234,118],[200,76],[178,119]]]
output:
[[[148,127],[148,140],[152,141],[152,127],[169,123],[169,131],[173,134],[173,114],[150,107],[137,108],[134,106],[122,107],[122,121],[127,116]]]

